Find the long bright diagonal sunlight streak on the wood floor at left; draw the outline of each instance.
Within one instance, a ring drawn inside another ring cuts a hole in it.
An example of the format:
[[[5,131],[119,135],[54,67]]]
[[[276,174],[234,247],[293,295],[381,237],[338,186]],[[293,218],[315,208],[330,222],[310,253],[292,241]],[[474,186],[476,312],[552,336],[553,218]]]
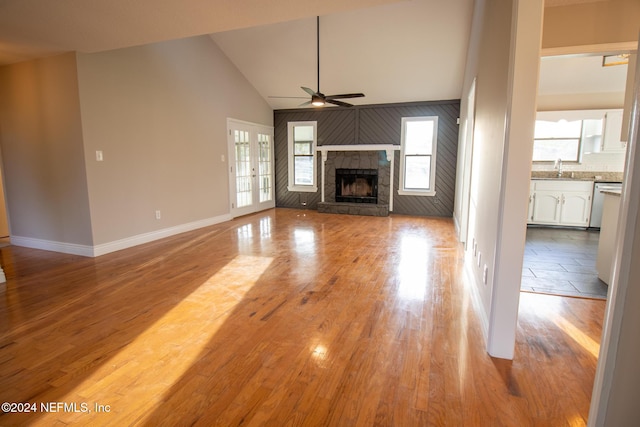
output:
[[[235,257],[61,400],[95,401],[117,410],[133,399],[146,403],[141,413],[152,413],[272,261]],[[144,365],[138,362],[141,354]]]

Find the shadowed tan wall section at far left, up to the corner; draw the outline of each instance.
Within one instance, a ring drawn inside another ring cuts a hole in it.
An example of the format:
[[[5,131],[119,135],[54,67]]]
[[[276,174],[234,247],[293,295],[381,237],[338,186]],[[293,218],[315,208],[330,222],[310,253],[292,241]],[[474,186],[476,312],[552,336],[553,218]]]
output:
[[[90,246],[74,54],[0,67],[0,144],[12,243]]]

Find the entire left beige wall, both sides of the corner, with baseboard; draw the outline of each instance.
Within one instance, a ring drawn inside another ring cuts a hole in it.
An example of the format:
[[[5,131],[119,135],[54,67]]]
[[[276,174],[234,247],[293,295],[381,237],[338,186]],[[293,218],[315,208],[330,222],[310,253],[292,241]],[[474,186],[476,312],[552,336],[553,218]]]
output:
[[[273,124],[208,36],[0,67],[0,94],[12,243],[82,255],[228,219],[226,120]]]

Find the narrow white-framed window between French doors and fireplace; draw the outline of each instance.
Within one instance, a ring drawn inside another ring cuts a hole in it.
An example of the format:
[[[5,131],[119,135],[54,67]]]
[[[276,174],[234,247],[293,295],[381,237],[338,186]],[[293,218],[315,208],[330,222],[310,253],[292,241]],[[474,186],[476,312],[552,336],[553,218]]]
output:
[[[316,192],[317,122],[289,122],[289,191]]]

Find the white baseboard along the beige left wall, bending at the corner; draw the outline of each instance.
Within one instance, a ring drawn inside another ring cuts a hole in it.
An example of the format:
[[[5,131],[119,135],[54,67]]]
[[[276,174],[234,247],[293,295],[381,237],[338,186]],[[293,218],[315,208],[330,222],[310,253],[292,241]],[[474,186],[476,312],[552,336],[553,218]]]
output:
[[[154,240],[164,239],[165,237],[170,237],[176,234],[185,233],[187,231],[197,230],[198,228],[208,227],[210,225],[230,221],[231,219],[232,217],[229,214],[219,215],[200,221],[194,221],[186,224],[176,225],[174,227],[163,228],[162,230],[138,234],[136,236],[127,237],[96,246],[78,245],[75,243],[56,242],[52,240],[34,239],[31,237],[21,236],[11,236],[11,244],[32,249],[60,252],[64,254],[98,257],[100,255],[106,255],[111,252],[132,248],[144,243],[153,242]]]

